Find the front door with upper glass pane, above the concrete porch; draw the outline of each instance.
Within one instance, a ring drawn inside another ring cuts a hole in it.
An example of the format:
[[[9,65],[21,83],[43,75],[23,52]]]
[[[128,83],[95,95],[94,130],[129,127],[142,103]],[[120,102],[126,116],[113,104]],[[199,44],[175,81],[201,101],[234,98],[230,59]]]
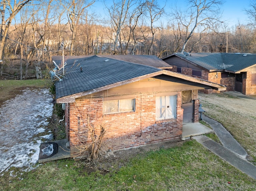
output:
[[[193,119],[192,91],[182,91],[183,124],[190,123]]]

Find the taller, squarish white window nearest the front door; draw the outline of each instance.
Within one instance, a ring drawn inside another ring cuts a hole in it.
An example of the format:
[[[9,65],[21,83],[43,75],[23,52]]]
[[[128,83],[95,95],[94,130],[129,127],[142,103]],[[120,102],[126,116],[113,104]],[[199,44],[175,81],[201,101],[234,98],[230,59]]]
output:
[[[156,119],[176,118],[177,96],[156,96]]]

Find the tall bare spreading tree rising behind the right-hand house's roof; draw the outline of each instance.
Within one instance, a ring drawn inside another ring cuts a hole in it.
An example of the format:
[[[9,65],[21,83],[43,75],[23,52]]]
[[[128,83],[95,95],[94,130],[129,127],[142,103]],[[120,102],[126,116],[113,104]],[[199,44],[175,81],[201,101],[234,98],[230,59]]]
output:
[[[215,22],[219,22],[221,0],[188,0],[190,5],[186,11],[178,8],[172,13],[174,20],[185,28],[183,52],[190,38],[199,29],[201,33],[210,30]]]

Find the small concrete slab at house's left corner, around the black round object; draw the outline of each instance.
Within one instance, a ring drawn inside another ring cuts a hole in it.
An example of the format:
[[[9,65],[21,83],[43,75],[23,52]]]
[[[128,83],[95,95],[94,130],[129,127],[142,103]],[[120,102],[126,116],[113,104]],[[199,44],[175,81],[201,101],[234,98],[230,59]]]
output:
[[[57,140],[57,141],[52,141],[52,142],[55,142],[58,144],[58,152],[51,157],[44,158],[44,157],[42,157],[42,154],[41,154],[42,152],[40,150],[38,163],[70,158],[70,149],[67,148],[67,145],[69,144],[69,142],[67,139],[62,139],[62,140]]]

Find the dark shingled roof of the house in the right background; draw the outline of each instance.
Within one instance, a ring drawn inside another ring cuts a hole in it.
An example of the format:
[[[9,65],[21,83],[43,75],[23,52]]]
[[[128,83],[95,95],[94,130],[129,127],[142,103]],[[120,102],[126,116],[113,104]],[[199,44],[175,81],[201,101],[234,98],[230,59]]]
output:
[[[242,53],[189,53],[186,57],[183,53],[174,53],[162,59],[165,60],[174,55],[209,71],[237,72],[256,64],[256,54]]]

